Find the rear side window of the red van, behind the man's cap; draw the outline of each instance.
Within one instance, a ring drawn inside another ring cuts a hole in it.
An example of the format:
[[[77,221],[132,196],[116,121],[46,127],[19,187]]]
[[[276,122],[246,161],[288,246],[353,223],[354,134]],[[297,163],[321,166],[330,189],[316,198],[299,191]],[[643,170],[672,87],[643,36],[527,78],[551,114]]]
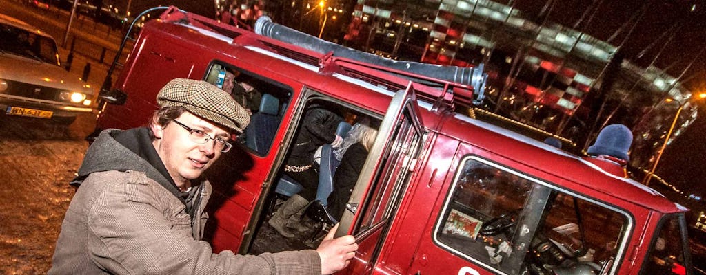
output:
[[[238,141],[256,155],[266,155],[282,122],[292,88],[220,62],[206,70],[204,79],[226,91],[248,111],[250,124]]]

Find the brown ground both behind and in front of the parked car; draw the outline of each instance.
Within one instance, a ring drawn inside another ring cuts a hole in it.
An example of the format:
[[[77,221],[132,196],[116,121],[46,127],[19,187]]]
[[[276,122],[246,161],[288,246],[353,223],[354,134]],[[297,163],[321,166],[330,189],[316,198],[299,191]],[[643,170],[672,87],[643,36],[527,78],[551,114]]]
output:
[[[67,11],[0,0],[0,13],[35,25],[61,46]],[[87,80],[97,94],[112,61],[107,57],[114,56],[121,34],[87,18],[74,20],[72,29],[69,41],[76,37],[76,53],[71,72],[80,77],[90,63]],[[100,63],[102,49],[107,53]],[[70,50],[71,43],[59,48],[61,60]],[[46,274],[51,267],[61,221],[74,193],[68,181],[76,177],[88,148],[84,138],[93,131],[96,115],[97,110],[79,115],[67,126],[0,113],[0,274]]]

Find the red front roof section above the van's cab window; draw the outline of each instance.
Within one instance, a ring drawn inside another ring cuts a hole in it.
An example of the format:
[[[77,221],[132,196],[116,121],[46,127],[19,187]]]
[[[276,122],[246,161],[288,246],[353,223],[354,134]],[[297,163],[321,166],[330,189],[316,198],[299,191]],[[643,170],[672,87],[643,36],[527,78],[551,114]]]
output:
[[[565,179],[561,186],[591,188],[657,212],[673,213],[688,210],[678,203],[671,202],[662,193],[649,186],[605,172],[580,156],[481,120],[458,114],[454,117],[455,119],[445,122],[438,131],[520,162],[527,167]],[[473,133],[472,139],[469,132]],[[561,165],[557,165],[558,163]]]

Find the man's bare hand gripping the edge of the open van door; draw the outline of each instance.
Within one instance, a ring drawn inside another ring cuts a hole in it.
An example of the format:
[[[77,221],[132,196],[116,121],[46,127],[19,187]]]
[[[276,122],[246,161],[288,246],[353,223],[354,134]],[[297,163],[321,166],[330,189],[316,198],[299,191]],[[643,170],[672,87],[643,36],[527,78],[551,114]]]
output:
[[[353,236],[333,238],[337,229],[338,224],[328,231],[328,235],[316,248],[318,257],[321,257],[321,274],[324,275],[333,274],[347,267],[350,259],[355,256],[355,250],[358,250],[358,244],[355,243]]]

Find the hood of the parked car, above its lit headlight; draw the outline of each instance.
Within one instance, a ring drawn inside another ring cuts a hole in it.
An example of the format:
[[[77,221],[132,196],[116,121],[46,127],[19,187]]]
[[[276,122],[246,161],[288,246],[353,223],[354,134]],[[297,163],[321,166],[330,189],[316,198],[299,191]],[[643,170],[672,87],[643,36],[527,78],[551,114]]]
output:
[[[0,79],[93,94],[86,83],[64,68],[11,53],[0,53]]]

